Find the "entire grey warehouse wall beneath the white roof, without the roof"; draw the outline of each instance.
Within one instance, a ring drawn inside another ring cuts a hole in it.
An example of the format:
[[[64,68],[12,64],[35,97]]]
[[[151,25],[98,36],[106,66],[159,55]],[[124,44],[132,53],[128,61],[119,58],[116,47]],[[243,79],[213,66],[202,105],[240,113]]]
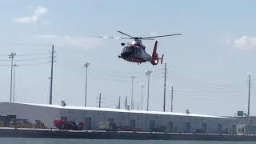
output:
[[[154,121],[154,130],[168,128],[168,122],[173,123],[174,132],[202,131],[202,124],[206,123],[206,133],[218,133],[218,123],[222,124],[222,133],[227,129],[232,132],[232,125],[236,124],[234,118],[205,118],[196,116],[166,115],[166,114],[138,114],[130,112],[116,112],[104,110],[74,110],[54,108],[48,106],[36,106],[19,103],[1,102],[0,114],[17,115],[17,118],[28,119],[30,122],[41,120],[45,126],[53,128],[53,121],[66,117],[69,121],[85,122],[91,118],[91,129],[98,130],[99,122],[108,122],[114,118],[117,126],[130,127],[130,120],[135,121],[136,130],[150,131],[150,122]],[[186,123],[187,122],[187,123]],[[189,123],[189,126],[188,126]],[[186,126],[187,125],[187,126]]]

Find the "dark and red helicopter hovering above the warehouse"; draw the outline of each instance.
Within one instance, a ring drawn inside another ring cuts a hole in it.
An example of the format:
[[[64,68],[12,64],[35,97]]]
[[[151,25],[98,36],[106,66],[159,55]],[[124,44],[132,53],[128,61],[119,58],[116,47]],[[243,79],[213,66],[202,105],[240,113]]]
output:
[[[137,62],[141,64],[142,62],[150,62],[153,66],[158,65],[159,60],[161,60],[161,64],[163,61],[162,57],[158,57],[157,47],[158,41],[154,42],[154,49],[152,54],[146,53],[146,46],[142,44],[142,40],[154,40],[154,38],[160,37],[169,37],[180,34],[167,34],[167,35],[158,35],[158,36],[150,36],[150,37],[134,37],[129,34],[125,34],[122,31],[118,31],[118,33],[126,35],[126,37],[98,37],[98,38],[114,38],[114,39],[131,39],[131,42],[122,42],[121,45],[125,46],[122,50],[122,53],[118,55],[118,58],[122,58],[128,62]]]

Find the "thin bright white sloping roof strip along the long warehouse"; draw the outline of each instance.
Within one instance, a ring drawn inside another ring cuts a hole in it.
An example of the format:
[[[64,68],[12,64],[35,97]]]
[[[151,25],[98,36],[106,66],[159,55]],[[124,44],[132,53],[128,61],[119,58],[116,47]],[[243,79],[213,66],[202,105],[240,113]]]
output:
[[[0,103],[2,103],[2,102],[0,102]],[[7,103],[12,103],[12,102],[7,102]],[[228,118],[228,117],[205,115],[205,114],[185,114],[185,113],[174,113],[174,112],[163,112],[163,111],[124,110],[124,109],[84,107],[84,106],[59,106],[59,105],[21,103],[21,102],[15,102],[15,104],[23,104],[23,105],[30,105],[30,106],[44,106],[44,107],[51,107],[51,108],[58,108],[58,109],[68,109],[68,110],[96,110],[96,111],[112,111],[112,112],[122,112],[122,113],[135,113],[135,114],[167,114],[167,115],[204,117],[204,118]]]

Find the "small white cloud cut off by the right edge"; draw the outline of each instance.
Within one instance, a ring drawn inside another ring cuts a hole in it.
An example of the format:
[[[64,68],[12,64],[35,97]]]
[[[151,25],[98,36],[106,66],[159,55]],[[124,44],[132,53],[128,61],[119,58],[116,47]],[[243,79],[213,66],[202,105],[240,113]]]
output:
[[[233,44],[240,49],[256,49],[256,38],[243,35],[241,38],[234,39]]]

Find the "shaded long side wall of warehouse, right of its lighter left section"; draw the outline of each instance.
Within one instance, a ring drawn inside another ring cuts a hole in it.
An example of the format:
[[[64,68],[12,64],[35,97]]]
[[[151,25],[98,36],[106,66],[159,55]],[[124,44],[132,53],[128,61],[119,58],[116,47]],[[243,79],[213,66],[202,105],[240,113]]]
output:
[[[135,120],[135,127],[139,130],[150,130],[150,121],[154,121],[154,128],[160,130],[168,127],[168,122],[173,122],[173,130],[176,132],[195,132],[202,130],[202,124],[206,123],[207,133],[219,133],[218,124],[222,125],[222,133],[232,132],[232,125],[236,125],[233,118],[202,118],[194,116],[178,116],[166,114],[137,114],[126,112],[109,112],[98,110],[61,110],[70,121],[85,121],[91,118],[92,129],[99,129],[99,122],[108,122],[109,118],[114,118],[118,126],[130,127],[130,120]],[[187,130],[186,122],[190,123]]]

